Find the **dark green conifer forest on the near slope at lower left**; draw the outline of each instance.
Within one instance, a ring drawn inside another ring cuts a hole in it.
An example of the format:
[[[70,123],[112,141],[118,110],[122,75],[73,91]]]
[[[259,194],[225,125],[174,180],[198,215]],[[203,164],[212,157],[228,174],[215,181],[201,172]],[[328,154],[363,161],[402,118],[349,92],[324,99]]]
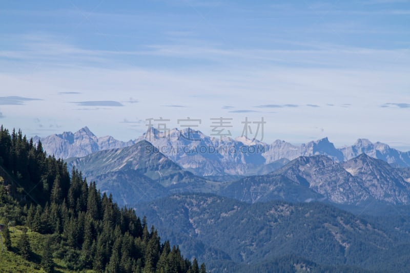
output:
[[[119,207],[95,182],[47,155],[41,142],[3,126],[0,223],[6,253],[46,272],[206,272],[196,259],[185,259],[178,246],[161,242],[145,217]]]

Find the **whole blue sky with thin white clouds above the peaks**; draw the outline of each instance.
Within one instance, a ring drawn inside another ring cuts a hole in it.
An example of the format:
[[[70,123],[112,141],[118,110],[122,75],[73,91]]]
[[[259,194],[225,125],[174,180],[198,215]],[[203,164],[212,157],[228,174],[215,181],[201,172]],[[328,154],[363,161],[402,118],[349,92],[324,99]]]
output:
[[[263,118],[268,143],[410,150],[410,1],[3,0],[0,26],[0,123],[29,137]]]

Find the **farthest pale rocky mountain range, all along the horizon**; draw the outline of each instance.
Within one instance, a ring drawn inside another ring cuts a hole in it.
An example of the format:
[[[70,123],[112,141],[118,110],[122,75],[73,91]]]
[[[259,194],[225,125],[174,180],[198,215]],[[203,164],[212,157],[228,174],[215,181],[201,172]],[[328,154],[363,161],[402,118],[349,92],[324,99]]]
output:
[[[38,139],[35,138],[34,141]],[[301,145],[282,140],[267,144],[245,137],[214,138],[192,129],[172,129],[163,133],[150,128],[137,139],[123,142],[110,136],[98,138],[85,127],[75,133],[65,132],[40,140],[48,154],[63,159],[123,148],[146,140],[183,169],[214,180],[229,180],[228,176],[234,178],[268,174],[284,165],[286,160],[312,155],[325,155],[336,162],[343,162],[365,153],[393,166],[410,166],[410,152],[400,152],[386,144],[373,144],[366,139],[359,139],[352,146],[336,149],[327,138]]]

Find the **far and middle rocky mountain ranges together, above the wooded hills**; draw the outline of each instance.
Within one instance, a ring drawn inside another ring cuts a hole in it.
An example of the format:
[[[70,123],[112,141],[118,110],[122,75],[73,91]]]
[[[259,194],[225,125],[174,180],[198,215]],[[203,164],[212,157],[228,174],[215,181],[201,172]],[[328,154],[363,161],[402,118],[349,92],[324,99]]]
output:
[[[71,142],[64,140],[69,135]],[[280,140],[269,145],[244,137],[210,138],[191,129],[174,129],[164,138],[150,128],[126,143],[105,142],[109,137],[99,139],[83,128],[43,139],[46,151],[56,147],[55,139],[59,144],[72,143],[65,148],[72,149],[72,155],[89,152],[67,159],[69,167],[96,181],[120,204],[134,206],[183,192],[213,193],[249,203],[410,204],[410,169],[397,167],[406,165],[407,153],[363,139],[336,149],[327,138],[300,146]],[[98,151],[103,144],[114,149]]]

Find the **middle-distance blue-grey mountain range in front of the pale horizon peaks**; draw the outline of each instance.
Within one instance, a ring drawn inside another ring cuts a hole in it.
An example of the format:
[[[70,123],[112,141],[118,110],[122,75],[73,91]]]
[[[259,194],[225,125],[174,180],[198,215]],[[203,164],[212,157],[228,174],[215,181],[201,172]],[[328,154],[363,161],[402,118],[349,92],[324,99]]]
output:
[[[410,204],[410,169],[395,168],[365,154],[346,162],[323,155],[301,156],[281,162],[268,174],[222,181],[183,169],[146,140],[67,162],[70,169],[75,167],[96,181],[102,192],[131,206],[175,193],[213,193],[248,203]]]

